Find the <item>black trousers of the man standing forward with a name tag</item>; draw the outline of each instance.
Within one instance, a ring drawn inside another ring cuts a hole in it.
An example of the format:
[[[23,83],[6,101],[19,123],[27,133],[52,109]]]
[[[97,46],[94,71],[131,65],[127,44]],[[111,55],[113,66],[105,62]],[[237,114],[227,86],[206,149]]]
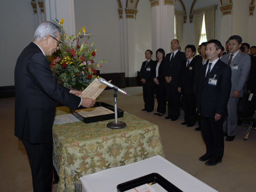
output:
[[[223,122],[221,117],[215,122],[214,118],[205,118],[200,115],[200,124],[204,143],[206,144],[206,153],[211,155],[211,158],[222,159],[224,154],[224,134]]]

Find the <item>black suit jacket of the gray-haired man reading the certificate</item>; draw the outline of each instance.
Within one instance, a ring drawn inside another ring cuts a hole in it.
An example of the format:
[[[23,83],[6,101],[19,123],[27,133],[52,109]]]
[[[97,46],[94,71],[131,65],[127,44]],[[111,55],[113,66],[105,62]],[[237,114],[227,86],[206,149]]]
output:
[[[76,109],[81,98],[56,83],[46,56],[33,42],[17,59],[14,81],[14,134],[30,143],[51,143],[55,101]]]

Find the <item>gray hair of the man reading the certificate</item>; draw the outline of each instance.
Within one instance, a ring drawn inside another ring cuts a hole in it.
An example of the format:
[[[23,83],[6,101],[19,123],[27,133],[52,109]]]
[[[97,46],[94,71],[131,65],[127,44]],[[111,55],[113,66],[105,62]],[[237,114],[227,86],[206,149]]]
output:
[[[34,40],[39,42],[46,36],[57,37],[58,32],[61,33],[61,28],[56,26],[56,24],[49,21],[43,22],[39,24],[39,26],[36,29],[36,32],[34,32]]]

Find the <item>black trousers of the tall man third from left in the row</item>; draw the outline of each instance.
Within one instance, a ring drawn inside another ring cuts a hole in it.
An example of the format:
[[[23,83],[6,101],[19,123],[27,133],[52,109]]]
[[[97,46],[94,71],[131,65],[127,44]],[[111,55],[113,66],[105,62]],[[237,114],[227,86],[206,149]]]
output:
[[[168,116],[178,118],[180,115],[180,93],[178,86],[167,85]]]

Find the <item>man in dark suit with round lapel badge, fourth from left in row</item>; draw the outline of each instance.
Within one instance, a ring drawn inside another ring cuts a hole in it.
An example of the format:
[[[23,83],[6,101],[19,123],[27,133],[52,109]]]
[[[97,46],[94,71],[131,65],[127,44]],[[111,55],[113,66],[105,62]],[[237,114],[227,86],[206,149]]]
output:
[[[188,45],[185,47],[185,57],[187,60],[182,62],[182,73],[180,75],[180,86],[178,91],[182,93],[184,107],[184,122],[182,125],[193,127],[197,114],[195,112],[195,92],[194,92],[194,75],[195,75],[195,46]]]

